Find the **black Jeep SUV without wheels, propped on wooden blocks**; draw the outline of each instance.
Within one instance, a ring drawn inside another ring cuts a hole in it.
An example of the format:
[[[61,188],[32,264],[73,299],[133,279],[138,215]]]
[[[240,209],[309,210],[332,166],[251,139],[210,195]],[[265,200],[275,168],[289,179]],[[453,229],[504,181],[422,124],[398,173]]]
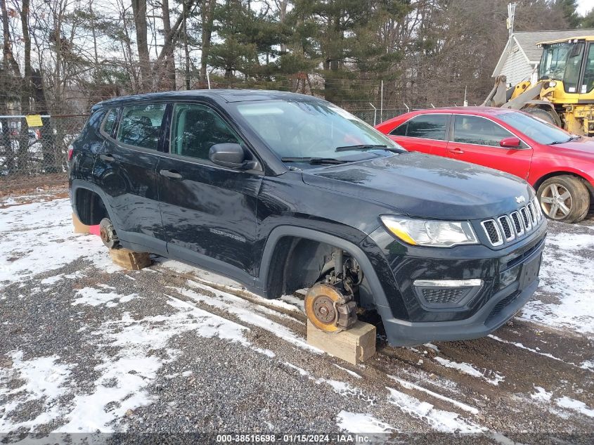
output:
[[[267,298],[309,288],[324,330],[377,311],[390,344],[481,337],[538,285],[546,223],[525,181],[408,153],[311,96],[115,98],[93,106],[70,155],[72,208],[108,247]]]

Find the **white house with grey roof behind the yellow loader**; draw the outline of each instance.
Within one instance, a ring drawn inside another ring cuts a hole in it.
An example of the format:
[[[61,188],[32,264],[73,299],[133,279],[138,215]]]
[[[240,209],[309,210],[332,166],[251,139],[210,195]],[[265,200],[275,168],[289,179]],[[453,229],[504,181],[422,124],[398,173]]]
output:
[[[512,86],[523,80],[538,82],[538,64],[543,50],[536,44],[588,35],[594,35],[594,30],[513,32],[493,70],[493,77],[505,75],[508,85]]]

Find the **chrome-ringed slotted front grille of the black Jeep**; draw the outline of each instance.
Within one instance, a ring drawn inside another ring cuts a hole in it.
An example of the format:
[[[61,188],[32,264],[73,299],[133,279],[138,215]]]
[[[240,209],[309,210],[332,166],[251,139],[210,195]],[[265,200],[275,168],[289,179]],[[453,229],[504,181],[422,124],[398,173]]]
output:
[[[481,226],[491,245],[497,247],[505,242],[510,243],[530,233],[542,219],[541,209],[536,198],[527,205],[510,214],[494,219],[481,221]]]

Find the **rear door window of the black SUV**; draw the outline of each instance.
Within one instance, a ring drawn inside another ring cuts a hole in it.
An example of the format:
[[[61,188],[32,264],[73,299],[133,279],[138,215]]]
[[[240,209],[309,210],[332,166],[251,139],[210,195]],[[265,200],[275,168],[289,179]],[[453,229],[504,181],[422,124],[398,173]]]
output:
[[[117,129],[117,141],[129,146],[157,150],[164,114],[164,103],[125,107]]]

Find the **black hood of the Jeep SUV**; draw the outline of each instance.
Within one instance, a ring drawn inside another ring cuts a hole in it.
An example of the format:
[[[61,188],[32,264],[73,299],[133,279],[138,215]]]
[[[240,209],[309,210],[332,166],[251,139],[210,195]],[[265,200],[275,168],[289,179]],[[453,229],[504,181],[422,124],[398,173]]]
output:
[[[399,214],[434,219],[494,217],[521,207],[519,197],[528,202],[534,196],[528,183],[516,176],[412,152],[308,169],[303,181],[373,200]]]

